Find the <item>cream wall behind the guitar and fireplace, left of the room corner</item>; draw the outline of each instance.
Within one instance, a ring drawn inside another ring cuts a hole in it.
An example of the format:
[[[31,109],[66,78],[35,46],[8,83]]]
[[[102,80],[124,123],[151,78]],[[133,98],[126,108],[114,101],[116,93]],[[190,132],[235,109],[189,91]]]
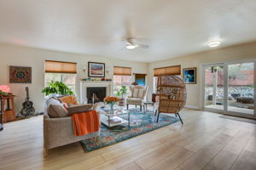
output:
[[[107,69],[109,70],[108,75],[106,75],[108,78],[113,77],[113,65],[130,66],[133,73],[147,74],[148,72],[148,64],[146,63],[131,62],[121,59],[112,59],[93,55],[69,54],[38,48],[24,48],[19,46],[0,44],[0,84],[9,84],[9,65],[32,67],[31,84],[9,84],[12,93],[16,95],[16,112],[20,111],[20,109],[22,108],[21,104],[26,98],[26,86],[30,88],[30,97],[32,102],[34,103],[35,109],[37,111],[43,111],[44,94],[41,94],[41,90],[44,88],[45,59],[77,62],[78,74],[76,94],[78,95],[78,97],[80,90],[79,80],[85,77],[83,70],[84,66],[88,65],[88,61],[105,63]]]

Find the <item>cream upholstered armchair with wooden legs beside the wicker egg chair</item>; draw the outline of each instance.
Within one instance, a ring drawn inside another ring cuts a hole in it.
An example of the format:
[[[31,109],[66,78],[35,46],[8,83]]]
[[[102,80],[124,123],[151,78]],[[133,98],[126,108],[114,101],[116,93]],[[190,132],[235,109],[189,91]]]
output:
[[[143,104],[146,101],[148,86],[131,86],[131,95],[126,99],[127,110],[129,105],[140,105],[140,110],[145,111],[145,106]]]

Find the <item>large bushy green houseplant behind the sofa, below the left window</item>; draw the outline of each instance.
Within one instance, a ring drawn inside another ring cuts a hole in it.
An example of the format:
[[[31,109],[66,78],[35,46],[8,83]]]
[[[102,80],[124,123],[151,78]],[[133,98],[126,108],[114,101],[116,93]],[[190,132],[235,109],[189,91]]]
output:
[[[49,94],[59,94],[59,95],[67,95],[73,94],[73,90],[71,88],[67,88],[67,85],[63,82],[48,82],[48,86],[42,90],[46,96]]]

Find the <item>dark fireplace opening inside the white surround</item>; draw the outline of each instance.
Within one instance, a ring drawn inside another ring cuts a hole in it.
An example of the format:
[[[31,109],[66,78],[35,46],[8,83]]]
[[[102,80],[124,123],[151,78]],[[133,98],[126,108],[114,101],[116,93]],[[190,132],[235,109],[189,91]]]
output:
[[[106,97],[106,87],[88,87],[86,88],[86,94],[87,103],[101,102]]]

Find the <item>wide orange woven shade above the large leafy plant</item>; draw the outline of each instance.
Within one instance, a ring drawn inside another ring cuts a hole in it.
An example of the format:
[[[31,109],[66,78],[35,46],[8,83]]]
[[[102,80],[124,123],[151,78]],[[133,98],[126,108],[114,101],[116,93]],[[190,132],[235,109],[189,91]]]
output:
[[[69,73],[69,74],[77,73],[76,63],[45,60],[44,66],[45,66],[45,72]]]

